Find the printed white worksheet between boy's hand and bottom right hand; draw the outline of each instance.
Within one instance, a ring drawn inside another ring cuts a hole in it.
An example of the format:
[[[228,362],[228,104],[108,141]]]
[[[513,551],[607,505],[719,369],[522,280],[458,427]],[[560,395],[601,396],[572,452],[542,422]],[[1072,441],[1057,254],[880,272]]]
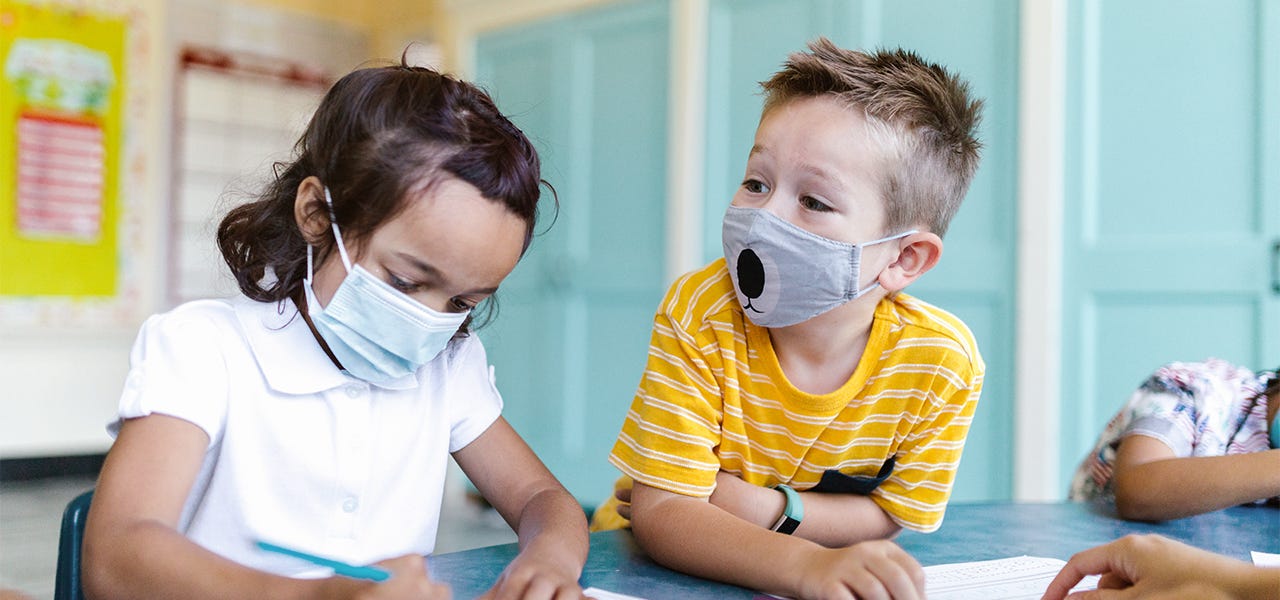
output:
[[[1038,557],[936,564],[924,568],[924,588],[929,600],[1039,600],[1064,564]],[[1097,581],[1087,577],[1075,591],[1093,590]]]

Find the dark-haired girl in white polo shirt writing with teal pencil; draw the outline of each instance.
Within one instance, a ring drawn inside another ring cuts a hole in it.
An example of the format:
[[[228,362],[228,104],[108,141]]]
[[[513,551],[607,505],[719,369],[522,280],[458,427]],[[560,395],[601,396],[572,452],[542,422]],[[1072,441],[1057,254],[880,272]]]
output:
[[[581,508],[500,417],[468,335],[529,247],[539,161],[476,87],[361,69],[227,215],[243,297],[138,334],[84,540],[92,597],[438,597],[448,455],[520,537],[490,590],[581,597]],[[268,541],[390,572],[316,577]],[[398,558],[392,558],[398,557]]]

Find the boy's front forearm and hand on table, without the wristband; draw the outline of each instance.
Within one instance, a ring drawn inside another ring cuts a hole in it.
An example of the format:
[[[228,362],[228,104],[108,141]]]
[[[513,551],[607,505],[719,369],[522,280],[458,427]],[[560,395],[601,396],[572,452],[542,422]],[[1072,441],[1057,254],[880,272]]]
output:
[[[920,565],[884,540],[823,548],[639,482],[631,527],[654,560],[699,577],[797,599],[924,597]]]

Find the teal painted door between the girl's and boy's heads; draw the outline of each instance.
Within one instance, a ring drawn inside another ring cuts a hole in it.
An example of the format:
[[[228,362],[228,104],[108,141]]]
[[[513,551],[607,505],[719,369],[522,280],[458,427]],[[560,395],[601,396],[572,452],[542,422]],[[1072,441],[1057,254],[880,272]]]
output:
[[[480,336],[507,418],[588,505],[617,477],[607,457],[666,290],[667,29],[666,3],[627,3],[476,47],[477,81],[559,194]]]

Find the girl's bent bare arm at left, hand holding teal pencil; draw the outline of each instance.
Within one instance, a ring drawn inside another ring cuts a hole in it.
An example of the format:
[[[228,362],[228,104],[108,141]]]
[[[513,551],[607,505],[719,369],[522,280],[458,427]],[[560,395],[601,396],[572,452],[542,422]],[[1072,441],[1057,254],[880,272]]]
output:
[[[131,418],[108,454],[84,532],[87,596],[110,597],[447,597],[422,557],[380,563],[384,585],[346,577],[292,580],[214,554],[178,532],[183,504],[209,445],[180,418]]]

